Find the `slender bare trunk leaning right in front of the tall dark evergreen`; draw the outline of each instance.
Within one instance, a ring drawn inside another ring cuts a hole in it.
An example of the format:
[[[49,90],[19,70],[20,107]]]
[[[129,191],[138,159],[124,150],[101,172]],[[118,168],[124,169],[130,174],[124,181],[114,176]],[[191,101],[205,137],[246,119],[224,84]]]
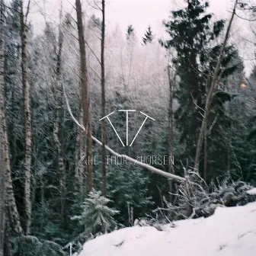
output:
[[[232,11],[232,17],[229,21],[229,26],[228,26],[228,29],[226,31],[224,42],[222,43],[222,48],[221,48],[221,51],[220,51],[220,54],[219,54],[219,59],[218,59],[218,62],[216,64],[216,68],[215,68],[214,73],[213,73],[213,79],[212,79],[212,82],[211,82],[211,85],[210,85],[210,90],[209,90],[209,92],[207,94],[207,98],[206,98],[205,112],[204,112],[203,121],[202,121],[202,124],[201,124],[200,135],[199,135],[198,141],[197,141],[197,152],[196,152],[196,157],[195,157],[195,161],[194,161],[194,169],[197,172],[199,172],[200,154],[201,154],[202,147],[203,147],[203,139],[204,139],[204,136],[205,136],[205,133],[206,133],[208,115],[210,113],[210,107],[211,107],[211,104],[212,104],[212,101],[213,101],[213,95],[214,95],[214,92],[216,91],[216,88],[217,88],[217,79],[218,79],[218,75],[219,75],[219,69],[220,69],[221,62],[222,62],[222,59],[223,59],[223,56],[224,56],[224,53],[225,53],[226,44],[227,44],[228,39],[229,39],[229,32],[230,32],[230,29],[231,29],[233,18],[235,16],[235,9],[236,9],[237,4],[238,4],[238,0],[235,0],[235,5],[234,5],[233,11]]]

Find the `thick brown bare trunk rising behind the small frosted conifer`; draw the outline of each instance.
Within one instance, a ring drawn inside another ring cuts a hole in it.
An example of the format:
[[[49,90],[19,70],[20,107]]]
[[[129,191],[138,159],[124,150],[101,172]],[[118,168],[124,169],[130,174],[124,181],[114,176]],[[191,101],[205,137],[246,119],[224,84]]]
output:
[[[85,51],[85,34],[82,19],[82,6],[80,0],[75,0],[77,25],[78,25],[78,40],[80,50],[80,79],[82,85],[82,110],[83,110],[83,124],[86,130],[86,162],[87,162],[87,193],[92,188],[92,141],[91,141],[91,114],[89,104],[89,90],[88,90],[88,70],[86,66],[86,51]]]

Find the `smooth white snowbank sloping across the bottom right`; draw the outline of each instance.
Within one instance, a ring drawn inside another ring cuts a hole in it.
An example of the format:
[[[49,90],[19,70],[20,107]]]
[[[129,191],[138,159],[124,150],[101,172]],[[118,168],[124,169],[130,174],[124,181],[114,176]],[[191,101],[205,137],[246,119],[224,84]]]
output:
[[[256,202],[218,207],[206,219],[174,222],[165,231],[131,227],[101,235],[78,256],[255,256]]]

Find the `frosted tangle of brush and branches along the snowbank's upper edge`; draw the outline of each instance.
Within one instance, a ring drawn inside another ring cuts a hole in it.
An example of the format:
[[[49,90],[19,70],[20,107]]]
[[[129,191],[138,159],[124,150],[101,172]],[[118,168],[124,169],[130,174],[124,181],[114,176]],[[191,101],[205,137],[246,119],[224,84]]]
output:
[[[242,206],[254,202],[256,196],[246,193],[251,188],[243,181],[232,181],[229,176],[207,186],[198,174],[190,171],[187,181],[178,187],[174,202],[165,200],[167,209],[158,209],[158,218],[169,221],[208,217],[213,215],[217,206]]]

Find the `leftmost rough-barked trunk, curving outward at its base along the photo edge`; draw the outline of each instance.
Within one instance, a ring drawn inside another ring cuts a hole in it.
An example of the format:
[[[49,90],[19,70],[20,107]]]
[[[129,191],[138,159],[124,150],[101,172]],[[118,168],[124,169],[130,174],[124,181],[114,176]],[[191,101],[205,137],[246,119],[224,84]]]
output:
[[[16,234],[22,234],[20,216],[18,214],[11,181],[9,143],[5,118],[5,4],[3,0],[1,0],[0,5],[0,142],[3,151],[2,177],[4,177],[3,181],[5,183],[5,216],[8,217],[8,222],[11,225],[12,231]]]

